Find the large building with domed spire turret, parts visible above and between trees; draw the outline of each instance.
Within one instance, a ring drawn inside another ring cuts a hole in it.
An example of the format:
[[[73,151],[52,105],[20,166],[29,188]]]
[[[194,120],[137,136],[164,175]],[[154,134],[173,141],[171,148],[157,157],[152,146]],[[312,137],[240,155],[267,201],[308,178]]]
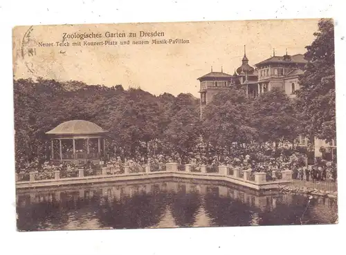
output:
[[[248,98],[254,99],[260,94],[279,88],[289,97],[295,97],[298,90],[298,78],[303,73],[302,68],[307,64],[304,55],[273,56],[255,64],[255,68],[248,64],[248,57],[244,46],[244,57],[242,65],[239,66],[233,75],[221,72],[214,72],[199,77],[200,82],[200,115],[202,117],[203,108],[212,101],[212,97],[221,90],[229,89],[231,86],[241,86]],[[296,141],[301,146],[307,145],[306,138],[298,138]],[[315,156],[330,160],[336,156],[336,142],[333,140],[327,143],[323,140],[315,139]],[[324,147],[326,152],[321,152]],[[325,156],[327,155],[327,156]]]

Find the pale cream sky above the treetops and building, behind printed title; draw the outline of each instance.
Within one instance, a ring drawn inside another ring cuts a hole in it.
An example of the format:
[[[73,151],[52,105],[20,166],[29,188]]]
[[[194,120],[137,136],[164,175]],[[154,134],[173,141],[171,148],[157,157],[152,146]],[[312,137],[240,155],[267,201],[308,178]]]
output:
[[[249,64],[268,57],[304,54],[318,19],[262,21],[203,21],[185,23],[127,23],[58,26],[19,26],[13,29],[15,79],[43,77],[86,84],[140,87],[155,95],[192,93],[199,97],[198,77],[214,71],[232,75],[242,64],[244,45]],[[29,32],[28,32],[29,30]],[[140,31],[163,32],[163,37],[139,37]],[[64,33],[100,33],[102,38],[65,39]],[[125,32],[126,37],[108,38],[106,32]],[[135,32],[136,37],[129,37]],[[152,39],[185,39],[189,44],[151,44]],[[119,45],[129,40],[129,45]],[[133,41],[148,40],[148,45]],[[81,41],[81,46],[72,46]],[[118,45],[83,46],[87,42],[118,41]],[[52,46],[42,46],[42,44]],[[33,54],[29,54],[29,50]]]

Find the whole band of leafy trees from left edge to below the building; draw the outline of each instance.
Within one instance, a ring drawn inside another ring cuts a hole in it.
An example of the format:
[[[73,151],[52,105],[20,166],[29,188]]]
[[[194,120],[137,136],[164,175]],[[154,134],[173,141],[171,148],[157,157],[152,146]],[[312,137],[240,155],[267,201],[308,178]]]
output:
[[[145,158],[158,153],[184,157],[201,148],[224,155],[233,142],[288,140],[295,120],[291,101],[280,91],[255,101],[236,88],[223,91],[200,120],[199,100],[190,94],[155,96],[121,85],[44,79],[19,79],[14,89],[17,162],[48,159],[45,133],[67,120],[89,120],[108,130],[110,155]]]

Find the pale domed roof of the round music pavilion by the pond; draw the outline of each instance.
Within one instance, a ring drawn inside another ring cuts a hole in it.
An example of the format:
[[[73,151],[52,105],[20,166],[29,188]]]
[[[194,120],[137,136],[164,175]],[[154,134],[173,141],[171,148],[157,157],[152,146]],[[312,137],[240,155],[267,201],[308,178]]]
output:
[[[48,131],[48,135],[91,135],[107,133],[104,129],[93,122],[86,120],[69,120],[56,126],[51,131]]]

